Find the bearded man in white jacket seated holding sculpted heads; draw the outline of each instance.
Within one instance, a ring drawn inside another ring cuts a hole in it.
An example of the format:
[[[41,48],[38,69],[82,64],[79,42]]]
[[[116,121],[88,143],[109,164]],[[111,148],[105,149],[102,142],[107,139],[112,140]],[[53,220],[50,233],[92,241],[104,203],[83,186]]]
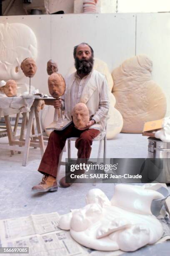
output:
[[[65,110],[65,117],[72,120],[73,108],[79,102],[85,103],[90,115],[90,121],[84,128],[75,127],[71,123],[62,131],[53,131],[47,148],[40,162],[38,171],[43,174],[40,184],[32,187],[39,192],[57,190],[57,166],[60,153],[65,141],[70,137],[78,137],[75,147],[78,149],[78,159],[89,159],[92,140],[105,129],[107,113],[109,110],[108,86],[105,76],[93,70],[93,49],[86,43],[74,47],[76,72],[71,74],[66,82],[66,91],[62,100],[55,100],[55,108]],[[77,159],[77,160],[78,160]],[[65,177],[60,179],[61,187],[69,187]]]

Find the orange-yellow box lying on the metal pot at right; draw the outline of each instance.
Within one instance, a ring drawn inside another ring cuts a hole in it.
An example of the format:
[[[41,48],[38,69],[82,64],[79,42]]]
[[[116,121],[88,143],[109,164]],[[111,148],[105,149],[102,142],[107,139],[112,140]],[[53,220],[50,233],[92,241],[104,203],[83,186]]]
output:
[[[154,131],[158,131],[163,128],[164,118],[146,122],[143,128],[143,136],[155,137]]]

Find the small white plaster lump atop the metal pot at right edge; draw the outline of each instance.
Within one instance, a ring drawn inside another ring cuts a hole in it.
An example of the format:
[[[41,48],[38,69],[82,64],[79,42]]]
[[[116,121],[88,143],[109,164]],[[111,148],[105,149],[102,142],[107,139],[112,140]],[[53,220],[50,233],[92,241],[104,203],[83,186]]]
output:
[[[170,142],[170,117],[164,118],[163,128],[155,132],[155,138]]]

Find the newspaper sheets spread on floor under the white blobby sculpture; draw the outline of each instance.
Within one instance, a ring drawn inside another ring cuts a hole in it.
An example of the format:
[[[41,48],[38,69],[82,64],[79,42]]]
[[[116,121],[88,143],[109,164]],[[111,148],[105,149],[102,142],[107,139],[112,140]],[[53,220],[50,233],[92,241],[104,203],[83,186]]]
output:
[[[72,239],[69,231],[60,230],[58,228],[59,218],[60,215],[53,212],[0,220],[0,247],[29,247],[31,256],[103,255],[102,251],[95,251],[78,244]],[[164,229],[163,238],[158,241],[160,243],[170,239],[168,212],[162,210],[158,220]],[[118,250],[104,253],[105,256],[118,256],[124,252]],[[22,255],[25,256],[25,254],[18,254],[18,256]]]

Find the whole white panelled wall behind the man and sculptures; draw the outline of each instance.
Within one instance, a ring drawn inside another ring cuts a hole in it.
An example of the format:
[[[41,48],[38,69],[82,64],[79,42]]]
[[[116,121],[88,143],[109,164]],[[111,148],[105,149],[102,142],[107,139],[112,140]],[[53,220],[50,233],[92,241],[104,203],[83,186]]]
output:
[[[67,14],[2,16],[0,23],[24,23],[37,37],[37,73],[32,85],[47,93],[46,63],[52,58],[63,75],[74,64],[73,47],[89,43],[95,57],[107,62],[110,71],[136,54],[147,54],[153,61],[153,79],[170,102],[170,13]],[[136,38],[135,38],[136,33]],[[29,83],[24,77],[21,83]],[[170,104],[168,103],[170,114]]]

